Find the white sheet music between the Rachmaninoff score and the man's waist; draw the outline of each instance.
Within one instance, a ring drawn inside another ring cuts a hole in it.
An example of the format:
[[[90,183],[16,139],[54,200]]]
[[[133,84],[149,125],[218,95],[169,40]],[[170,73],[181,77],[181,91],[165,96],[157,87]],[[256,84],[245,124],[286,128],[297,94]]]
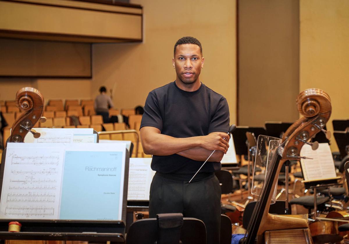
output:
[[[130,158],[127,200],[148,200],[150,183],[155,171],[150,168],[151,158]]]

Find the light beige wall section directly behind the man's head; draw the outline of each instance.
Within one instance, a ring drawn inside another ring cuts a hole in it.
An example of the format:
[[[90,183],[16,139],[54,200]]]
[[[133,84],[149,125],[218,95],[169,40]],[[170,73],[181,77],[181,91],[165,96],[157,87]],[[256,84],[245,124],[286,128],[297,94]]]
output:
[[[143,6],[142,44],[94,44],[92,97],[114,87],[116,107],[144,105],[150,90],[174,81],[173,46],[183,36],[200,40],[201,81],[227,98],[236,123],[236,3],[133,0]]]

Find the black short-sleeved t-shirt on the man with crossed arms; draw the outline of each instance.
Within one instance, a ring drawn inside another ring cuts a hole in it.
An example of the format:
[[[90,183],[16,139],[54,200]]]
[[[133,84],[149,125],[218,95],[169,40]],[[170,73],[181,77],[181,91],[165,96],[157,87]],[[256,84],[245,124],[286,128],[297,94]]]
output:
[[[206,136],[211,132],[229,130],[227,100],[201,83],[198,90],[181,90],[176,82],[149,92],[141,128],[156,127],[161,134],[185,138]],[[163,174],[194,174],[203,161],[195,161],[178,154],[154,155],[151,168]],[[220,162],[206,162],[201,173],[213,173],[221,169]]]

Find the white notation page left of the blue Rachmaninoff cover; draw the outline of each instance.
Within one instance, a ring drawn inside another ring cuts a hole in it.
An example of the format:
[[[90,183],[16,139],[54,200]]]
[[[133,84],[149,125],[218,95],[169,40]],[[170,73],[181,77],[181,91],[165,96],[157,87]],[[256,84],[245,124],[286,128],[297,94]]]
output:
[[[8,143],[0,218],[57,219],[62,156],[63,148],[18,150]]]

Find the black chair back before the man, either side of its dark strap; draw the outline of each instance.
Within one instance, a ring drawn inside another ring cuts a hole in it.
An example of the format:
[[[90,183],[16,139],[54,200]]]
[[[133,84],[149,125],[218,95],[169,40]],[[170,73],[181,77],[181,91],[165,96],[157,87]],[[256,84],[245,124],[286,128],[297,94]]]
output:
[[[155,218],[133,222],[126,235],[126,244],[155,244],[158,239],[158,221]],[[183,244],[206,244],[206,227],[198,219],[183,218],[180,231]],[[158,243],[161,244],[161,243]]]

